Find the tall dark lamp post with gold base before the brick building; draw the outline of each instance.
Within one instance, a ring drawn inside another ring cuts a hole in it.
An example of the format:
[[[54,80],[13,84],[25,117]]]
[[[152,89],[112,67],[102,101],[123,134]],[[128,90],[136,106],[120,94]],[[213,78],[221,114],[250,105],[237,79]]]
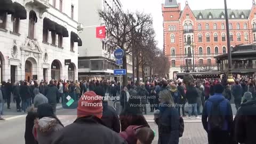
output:
[[[227,1],[224,0],[225,4],[225,17],[226,17],[226,29],[227,29],[227,46],[228,46],[228,83],[234,83],[232,75],[232,61],[231,61],[231,49],[230,49],[230,38],[229,38],[229,22],[228,22],[228,10],[227,10]]]

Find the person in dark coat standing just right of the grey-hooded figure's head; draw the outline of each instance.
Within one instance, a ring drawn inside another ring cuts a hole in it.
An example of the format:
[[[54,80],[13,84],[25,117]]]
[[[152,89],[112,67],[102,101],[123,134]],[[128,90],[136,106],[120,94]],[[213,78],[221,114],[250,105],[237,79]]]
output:
[[[50,103],[50,105],[53,107],[54,113],[56,113],[56,106],[57,106],[57,99],[59,97],[59,91],[55,86],[53,80],[49,82],[45,96],[48,99],[48,102]]]

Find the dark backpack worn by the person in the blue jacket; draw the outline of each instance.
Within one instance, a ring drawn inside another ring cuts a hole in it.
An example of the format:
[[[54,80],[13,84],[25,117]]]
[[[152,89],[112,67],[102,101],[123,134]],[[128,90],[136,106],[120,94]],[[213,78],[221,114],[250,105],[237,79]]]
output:
[[[209,100],[209,99],[208,99]],[[225,122],[225,115],[221,112],[220,103],[225,100],[225,98],[212,102],[212,108],[208,118],[208,123],[210,124],[211,131],[221,131],[223,124]]]

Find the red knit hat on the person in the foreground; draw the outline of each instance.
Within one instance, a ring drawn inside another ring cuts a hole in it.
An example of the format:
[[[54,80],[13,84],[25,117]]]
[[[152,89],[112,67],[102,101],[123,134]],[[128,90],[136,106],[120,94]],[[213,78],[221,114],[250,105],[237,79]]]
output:
[[[102,117],[102,97],[95,92],[85,92],[78,101],[77,117],[96,116]]]

